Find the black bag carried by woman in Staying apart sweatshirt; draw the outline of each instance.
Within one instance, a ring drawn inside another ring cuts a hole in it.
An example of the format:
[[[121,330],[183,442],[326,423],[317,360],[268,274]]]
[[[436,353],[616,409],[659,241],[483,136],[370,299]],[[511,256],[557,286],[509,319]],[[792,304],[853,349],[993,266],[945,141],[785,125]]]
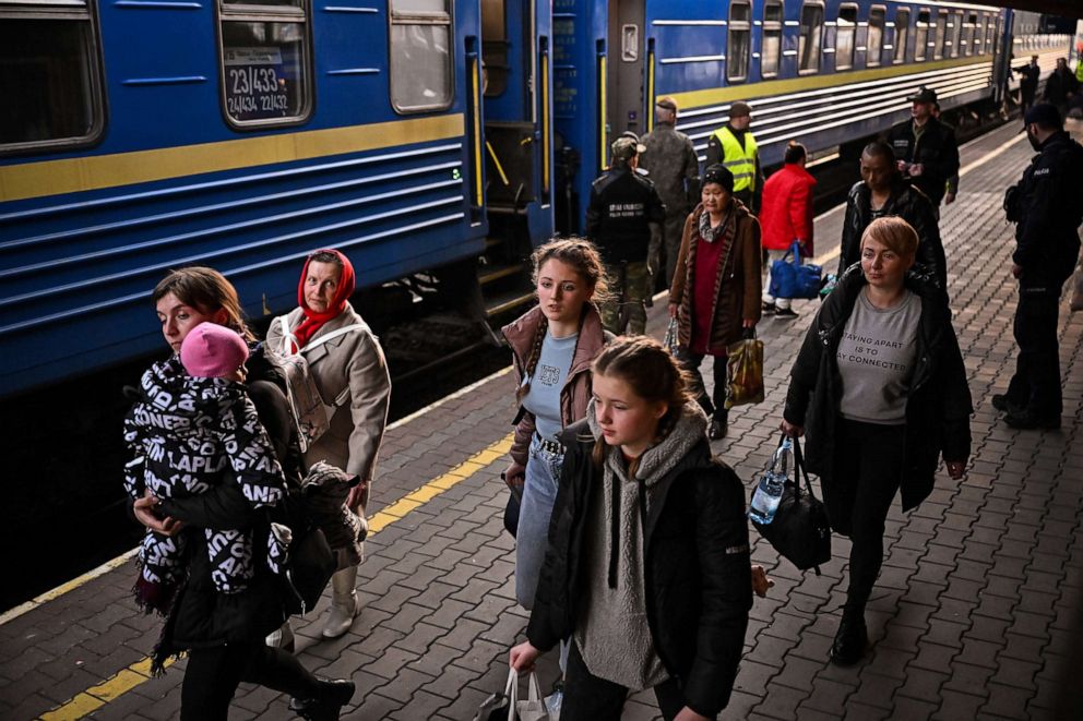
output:
[[[760,536],[778,552],[788,558],[800,570],[816,568],[820,575],[820,564],[831,561],[831,526],[828,524],[828,512],[823,503],[812,493],[809,473],[805,468],[801,456],[801,444],[794,438],[794,480],[783,485],[782,500],[778,509],[770,524],[752,525]],[[805,490],[801,490],[800,477],[805,474]],[[755,489],[752,490],[755,493]]]

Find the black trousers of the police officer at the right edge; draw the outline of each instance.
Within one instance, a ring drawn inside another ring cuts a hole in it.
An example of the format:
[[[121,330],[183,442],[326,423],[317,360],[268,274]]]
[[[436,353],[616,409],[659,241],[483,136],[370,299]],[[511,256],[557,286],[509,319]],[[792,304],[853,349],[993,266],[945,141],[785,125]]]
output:
[[[1060,416],[1064,409],[1057,340],[1059,311],[1059,295],[1020,289],[1013,325],[1019,358],[1008,385],[1008,400],[1042,418]]]

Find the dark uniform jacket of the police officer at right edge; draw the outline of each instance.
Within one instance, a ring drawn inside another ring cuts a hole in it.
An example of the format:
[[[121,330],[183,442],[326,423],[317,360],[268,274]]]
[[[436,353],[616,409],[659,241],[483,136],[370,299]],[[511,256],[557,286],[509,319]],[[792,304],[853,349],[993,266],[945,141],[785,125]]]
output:
[[[1083,147],[1064,131],[1054,133],[1016,188],[1019,225],[1012,262],[1023,267],[1020,287],[1059,296],[1080,253]]]

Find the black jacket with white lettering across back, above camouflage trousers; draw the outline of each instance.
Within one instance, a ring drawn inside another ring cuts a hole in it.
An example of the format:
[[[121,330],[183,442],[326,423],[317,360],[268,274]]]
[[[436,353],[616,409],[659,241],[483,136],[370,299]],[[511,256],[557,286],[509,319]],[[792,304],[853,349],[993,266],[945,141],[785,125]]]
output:
[[[586,236],[606,263],[645,262],[651,233],[660,237],[665,221],[666,206],[654,183],[627,165],[609,170],[591,185]]]

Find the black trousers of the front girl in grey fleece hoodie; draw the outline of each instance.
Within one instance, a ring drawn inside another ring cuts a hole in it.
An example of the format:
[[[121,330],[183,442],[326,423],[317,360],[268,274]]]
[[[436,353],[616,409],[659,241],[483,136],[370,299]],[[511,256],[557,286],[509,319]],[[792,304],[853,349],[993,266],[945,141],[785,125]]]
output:
[[[673,678],[654,687],[662,716],[669,721],[685,708],[685,695]],[[620,721],[628,689],[611,681],[591,674],[579,647],[571,641],[568,649],[568,670],[564,672],[564,700],[560,706],[560,721]]]

